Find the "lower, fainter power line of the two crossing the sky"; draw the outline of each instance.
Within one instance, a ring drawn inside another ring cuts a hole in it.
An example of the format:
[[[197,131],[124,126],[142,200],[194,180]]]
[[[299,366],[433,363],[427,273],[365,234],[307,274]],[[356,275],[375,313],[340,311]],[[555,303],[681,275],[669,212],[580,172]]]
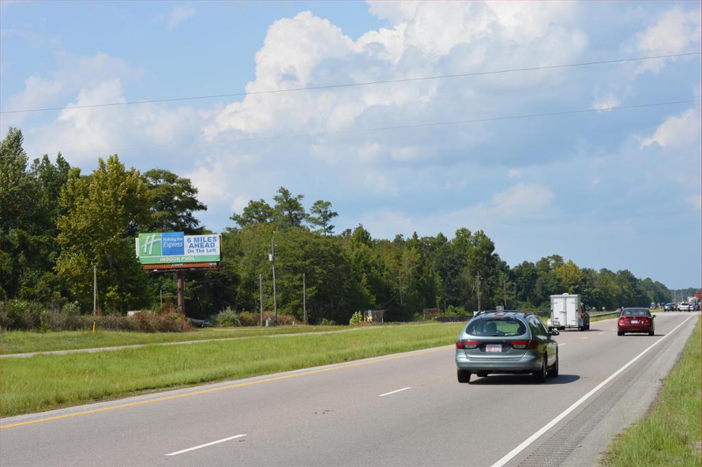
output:
[[[390,131],[390,130],[400,130],[400,129],[415,129],[415,128],[429,128],[432,126],[445,126],[445,125],[458,125],[458,124],[471,124],[479,123],[484,121],[501,121],[501,120],[515,120],[515,119],[529,119],[536,117],[555,117],[559,115],[573,115],[573,114],[587,114],[592,112],[604,112],[608,110],[627,110],[627,109],[640,109],[644,107],[660,107],[663,105],[675,105],[675,104],[690,104],[702,102],[701,99],[689,99],[689,100],[672,100],[668,102],[661,103],[647,103],[647,104],[636,104],[636,105],[617,105],[612,107],[598,107],[590,109],[581,110],[562,110],[559,112],[542,112],[536,114],[521,114],[521,115],[508,115],[504,117],[486,117],[481,119],[466,119],[466,120],[453,120],[453,121],[433,121],[429,123],[420,124],[408,124],[408,125],[396,125],[396,126],[378,126],[375,128],[366,129],[349,129],[349,130],[339,130],[339,131],[322,131],[319,133],[293,133],[288,135],[278,135],[278,136],[259,136],[253,138],[236,138],[230,140],[213,140],[213,141],[198,141],[195,143],[170,143],[161,145],[145,145],[145,146],[132,146],[132,147],[121,147],[113,150],[106,149],[91,149],[91,150],[79,150],[79,151],[55,151],[61,152],[61,154],[84,154],[87,152],[109,152],[109,153],[119,153],[121,151],[131,151],[131,150],[145,150],[145,149],[155,149],[159,147],[187,147],[187,146],[199,146],[206,144],[223,144],[223,143],[241,143],[248,141],[268,141],[268,140],[279,140],[286,138],[317,138],[319,136],[338,136],[350,133],[366,133],[372,131]],[[53,152],[51,152],[53,154]],[[44,152],[43,154],[49,154],[49,152]],[[43,154],[34,154],[34,157],[40,157]]]

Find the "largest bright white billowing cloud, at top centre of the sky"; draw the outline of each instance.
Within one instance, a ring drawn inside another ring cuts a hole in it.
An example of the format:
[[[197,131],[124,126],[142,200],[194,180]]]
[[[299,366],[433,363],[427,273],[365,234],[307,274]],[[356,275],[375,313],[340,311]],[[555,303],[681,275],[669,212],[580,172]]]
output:
[[[366,32],[357,41],[328,20],[305,11],[268,28],[263,48],[256,53],[256,79],[249,82],[246,91],[573,60],[587,44],[585,34],[573,24],[577,11],[575,4],[567,3],[539,8],[519,2],[371,3],[371,13],[393,18],[393,24]],[[465,115],[475,100],[488,98],[475,86],[533,88],[561,76],[559,72],[495,76],[487,83],[469,82],[458,94],[455,86],[442,81],[418,81],[249,95],[219,112],[205,135],[213,139],[221,133],[317,133],[432,121],[454,112]],[[484,137],[471,131],[463,133],[465,138]],[[381,144],[366,140],[365,135],[354,141],[359,142]],[[382,145],[380,153],[390,154],[391,159],[415,157],[406,150],[397,152],[397,148],[393,154],[392,143]]]

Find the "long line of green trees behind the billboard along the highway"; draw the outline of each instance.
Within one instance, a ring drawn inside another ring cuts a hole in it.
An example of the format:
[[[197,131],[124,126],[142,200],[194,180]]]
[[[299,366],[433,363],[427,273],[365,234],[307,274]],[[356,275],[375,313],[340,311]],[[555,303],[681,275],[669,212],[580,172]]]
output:
[[[0,298],[92,312],[93,267],[100,308],[158,308],[172,300],[172,274],[147,275],[134,251],[138,232],[211,233],[197,220],[206,206],[187,178],[164,169],[140,173],[117,154],[81,173],[58,154],[29,158],[22,132],[0,143]],[[548,307],[551,294],[581,294],[588,307],[648,306],[673,291],[628,270],[581,268],[557,254],[510,267],[482,231],[459,228],[449,239],[396,235],[374,239],[363,225],[334,233],[338,213],[317,200],[279,188],[271,202],[251,200],[221,232],[220,269],[187,275],[186,310],[206,317],[227,307],[273,308],[270,254],[275,232],[279,313],[303,313],[303,276],[310,322],[348,322],[357,310],[386,310],[408,321],[426,308],[448,313]],[[263,290],[259,278],[263,278]]]

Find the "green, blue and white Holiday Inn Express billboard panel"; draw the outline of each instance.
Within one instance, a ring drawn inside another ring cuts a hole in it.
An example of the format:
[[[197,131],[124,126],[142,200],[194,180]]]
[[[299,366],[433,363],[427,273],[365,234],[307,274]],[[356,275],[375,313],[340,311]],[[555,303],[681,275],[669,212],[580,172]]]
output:
[[[220,261],[218,234],[183,235],[183,232],[140,233],[136,256],[143,265],[213,263]]]

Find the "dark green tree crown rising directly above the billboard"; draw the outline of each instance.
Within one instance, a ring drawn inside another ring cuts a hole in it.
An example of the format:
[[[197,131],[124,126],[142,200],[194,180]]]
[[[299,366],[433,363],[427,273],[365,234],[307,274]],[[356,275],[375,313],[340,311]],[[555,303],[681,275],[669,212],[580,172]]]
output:
[[[197,188],[190,178],[177,176],[164,169],[151,169],[143,173],[152,199],[150,232],[185,232],[192,235],[202,232],[195,218],[195,211],[206,211],[207,206],[197,199]]]

